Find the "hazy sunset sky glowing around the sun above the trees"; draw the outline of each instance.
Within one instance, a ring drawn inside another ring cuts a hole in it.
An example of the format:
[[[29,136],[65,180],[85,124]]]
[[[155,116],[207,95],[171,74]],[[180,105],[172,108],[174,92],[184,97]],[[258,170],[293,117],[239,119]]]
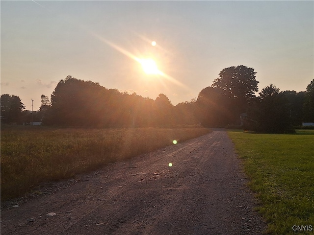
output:
[[[254,68],[259,89],[314,78],[314,1],[0,1],[1,94],[41,105],[67,75],[172,104],[224,68]],[[156,42],[152,44],[152,42]],[[157,74],[143,71],[154,60]]]

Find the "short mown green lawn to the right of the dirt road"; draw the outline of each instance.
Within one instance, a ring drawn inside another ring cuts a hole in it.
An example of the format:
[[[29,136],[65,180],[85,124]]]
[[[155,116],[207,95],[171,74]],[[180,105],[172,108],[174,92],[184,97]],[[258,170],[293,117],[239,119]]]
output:
[[[314,234],[314,130],[291,135],[228,134],[261,202],[258,210],[269,224],[268,232]]]

